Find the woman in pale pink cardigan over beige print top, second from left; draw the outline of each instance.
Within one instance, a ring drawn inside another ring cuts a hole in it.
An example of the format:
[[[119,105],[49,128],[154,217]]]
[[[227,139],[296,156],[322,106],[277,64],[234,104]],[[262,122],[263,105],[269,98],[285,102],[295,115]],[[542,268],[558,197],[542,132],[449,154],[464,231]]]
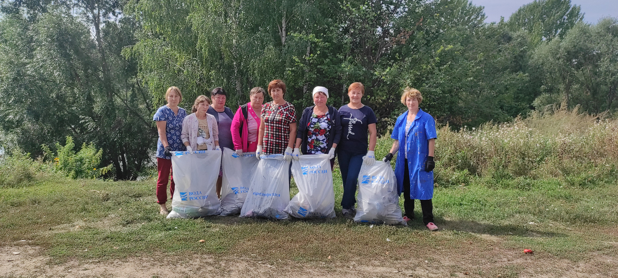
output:
[[[219,128],[214,116],[206,113],[210,107],[210,99],[206,96],[198,96],[193,103],[193,114],[185,117],[182,122],[180,139],[187,151],[212,151],[219,148]]]

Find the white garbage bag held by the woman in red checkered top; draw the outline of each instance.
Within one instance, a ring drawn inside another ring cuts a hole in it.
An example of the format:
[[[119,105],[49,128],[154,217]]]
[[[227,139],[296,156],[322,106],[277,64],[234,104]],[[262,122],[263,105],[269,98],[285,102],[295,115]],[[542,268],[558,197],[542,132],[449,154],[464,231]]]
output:
[[[282,154],[262,155],[260,158],[240,217],[287,219],[284,209],[290,203],[290,161],[283,159]]]

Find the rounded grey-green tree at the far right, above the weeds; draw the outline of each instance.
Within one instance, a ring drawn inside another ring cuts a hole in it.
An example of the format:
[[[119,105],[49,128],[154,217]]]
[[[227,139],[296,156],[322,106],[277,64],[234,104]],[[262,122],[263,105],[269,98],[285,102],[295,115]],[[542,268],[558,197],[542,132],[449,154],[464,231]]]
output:
[[[537,109],[577,105],[589,113],[615,111],[618,90],[618,19],[578,23],[562,40],[539,46],[531,63],[543,72]]]

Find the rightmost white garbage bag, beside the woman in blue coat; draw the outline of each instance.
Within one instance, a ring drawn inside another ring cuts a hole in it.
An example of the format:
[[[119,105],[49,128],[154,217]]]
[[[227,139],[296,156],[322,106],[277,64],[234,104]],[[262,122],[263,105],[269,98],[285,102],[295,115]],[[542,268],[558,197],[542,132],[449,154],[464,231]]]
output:
[[[399,207],[397,180],[389,162],[363,164],[358,174],[358,206],[354,221],[406,225]]]

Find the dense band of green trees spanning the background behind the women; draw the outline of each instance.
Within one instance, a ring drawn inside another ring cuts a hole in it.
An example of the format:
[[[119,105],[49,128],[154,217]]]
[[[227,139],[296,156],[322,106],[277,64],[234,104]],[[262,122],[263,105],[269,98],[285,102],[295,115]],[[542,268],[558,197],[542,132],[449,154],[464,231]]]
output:
[[[281,78],[300,111],[313,86],[340,106],[363,82],[381,133],[404,111],[405,86],[451,128],[561,103],[618,107],[618,20],[584,23],[570,0],[536,0],[497,23],[466,0],[0,3],[2,143],[40,156],[66,136],[93,142],[116,179],[151,163],[150,119],[171,85],[183,107],[216,86],[235,107]]]

